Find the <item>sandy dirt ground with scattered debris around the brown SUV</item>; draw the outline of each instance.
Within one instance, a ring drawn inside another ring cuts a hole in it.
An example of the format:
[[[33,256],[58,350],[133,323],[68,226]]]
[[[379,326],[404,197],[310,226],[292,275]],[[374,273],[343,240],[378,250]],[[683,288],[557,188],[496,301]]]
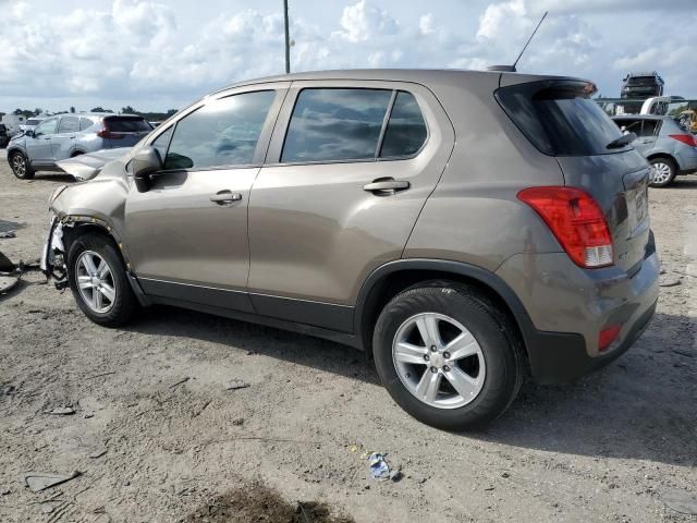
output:
[[[0,251],[32,260],[69,180],[0,155]],[[412,419],[352,349],[167,307],[109,330],[29,272],[0,296],[0,521],[697,521],[665,504],[697,495],[697,177],[650,202],[677,284],[644,337],[479,433]],[[372,450],[400,482],[370,478]],[[30,471],[81,475],[33,492]]]

